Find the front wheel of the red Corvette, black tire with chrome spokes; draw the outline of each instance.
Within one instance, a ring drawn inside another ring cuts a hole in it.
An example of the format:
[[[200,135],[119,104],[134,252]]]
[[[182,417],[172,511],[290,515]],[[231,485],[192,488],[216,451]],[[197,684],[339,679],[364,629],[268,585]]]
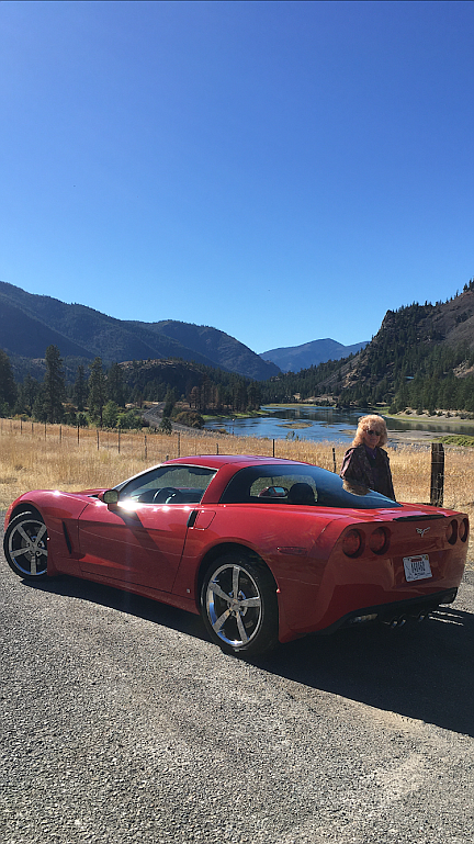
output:
[[[11,519],[3,550],[10,569],[19,577],[46,577],[47,530],[38,513],[24,510]]]

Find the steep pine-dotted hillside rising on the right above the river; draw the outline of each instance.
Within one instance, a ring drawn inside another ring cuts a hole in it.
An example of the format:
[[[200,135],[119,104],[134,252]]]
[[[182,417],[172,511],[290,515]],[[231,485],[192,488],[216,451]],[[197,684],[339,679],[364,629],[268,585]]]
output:
[[[330,395],[339,404],[385,403],[435,412],[474,412],[474,281],[435,305],[388,311],[372,341],[341,361],[271,379],[264,401]]]

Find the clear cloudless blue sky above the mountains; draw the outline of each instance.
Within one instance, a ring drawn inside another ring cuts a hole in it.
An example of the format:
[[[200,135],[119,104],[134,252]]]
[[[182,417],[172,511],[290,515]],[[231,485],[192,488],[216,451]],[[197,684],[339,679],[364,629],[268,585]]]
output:
[[[2,281],[261,352],[474,275],[473,2],[10,0],[0,43]]]

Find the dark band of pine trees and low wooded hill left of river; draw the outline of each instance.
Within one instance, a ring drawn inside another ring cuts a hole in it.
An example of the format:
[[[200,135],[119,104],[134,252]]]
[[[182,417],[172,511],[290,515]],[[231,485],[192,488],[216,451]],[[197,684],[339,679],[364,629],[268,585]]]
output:
[[[185,424],[200,427],[203,413],[248,412],[261,404],[259,382],[177,359],[105,367],[95,357],[88,367],[79,363],[74,383],[67,384],[59,349],[52,345],[42,374],[38,380],[27,373],[15,383],[9,357],[0,350],[0,416],[125,428],[142,425],[144,402],[165,402],[168,416],[177,402],[184,402],[191,415]],[[132,404],[135,410],[127,409]]]

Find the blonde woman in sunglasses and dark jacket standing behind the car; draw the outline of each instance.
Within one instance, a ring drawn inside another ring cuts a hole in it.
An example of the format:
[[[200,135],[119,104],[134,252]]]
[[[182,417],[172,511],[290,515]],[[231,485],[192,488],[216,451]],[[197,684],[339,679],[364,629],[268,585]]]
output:
[[[395,500],[388,454],[382,448],[387,439],[382,416],[361,416],[352,446],[346,451],[340,476]]]

